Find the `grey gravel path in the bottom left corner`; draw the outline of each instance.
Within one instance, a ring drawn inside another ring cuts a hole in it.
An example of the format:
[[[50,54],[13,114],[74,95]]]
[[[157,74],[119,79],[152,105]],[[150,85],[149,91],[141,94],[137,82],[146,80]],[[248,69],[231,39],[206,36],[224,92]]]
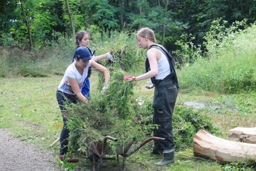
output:
[[[53,152],[27,145],[0,129],[1,171],[59,171]]]

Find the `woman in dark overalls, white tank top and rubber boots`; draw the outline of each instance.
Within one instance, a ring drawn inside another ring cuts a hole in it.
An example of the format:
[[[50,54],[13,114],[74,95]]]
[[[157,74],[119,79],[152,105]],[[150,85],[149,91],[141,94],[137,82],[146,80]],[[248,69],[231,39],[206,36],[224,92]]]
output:
[[[172,59],[163,46],[156,44],[154,31],[149,28],[141,28],[136,34],[141,48],[147,49],[146,73],[138,77],[125,76],[124,81],[132,79],[139,81],[152,79],[155,88],[153,123],[159,125],[154,129],[154,136],[165,138],[166,142],[154,142],[153,154],[163,154],[163,159],[156,165],[174,163],[174,137],[172,132],[172,114],[178,94],[178,79]]]

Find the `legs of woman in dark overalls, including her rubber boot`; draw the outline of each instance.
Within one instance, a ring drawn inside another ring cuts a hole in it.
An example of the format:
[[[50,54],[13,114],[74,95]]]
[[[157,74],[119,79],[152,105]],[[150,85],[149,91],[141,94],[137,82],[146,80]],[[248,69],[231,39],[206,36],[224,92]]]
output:
[[[172,114],[176,102],[176,86],[163,81],[155,88],[153,123],[158,125],[154,129],[154,136],[165,138],[166,142],[158,142],[163,152],[163,159],[156,165],[174,163],[174,138],[172,132]]]

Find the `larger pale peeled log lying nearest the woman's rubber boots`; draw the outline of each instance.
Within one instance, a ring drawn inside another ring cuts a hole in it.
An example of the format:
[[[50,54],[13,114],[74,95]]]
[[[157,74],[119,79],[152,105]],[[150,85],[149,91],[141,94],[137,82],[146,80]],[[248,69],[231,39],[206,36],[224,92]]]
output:
[[[256,145],[228,141],[215,137],[205,130],[199,130],[194,137],[194,156],[227,163],[248,163],[248,159],[256,159]]]

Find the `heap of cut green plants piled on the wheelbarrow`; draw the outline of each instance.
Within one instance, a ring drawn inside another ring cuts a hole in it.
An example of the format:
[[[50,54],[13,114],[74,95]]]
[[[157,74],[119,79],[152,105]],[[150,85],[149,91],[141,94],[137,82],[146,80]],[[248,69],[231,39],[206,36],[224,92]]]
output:
[[[118,142],[111,143],[112,149],[117,145],[141,143],[151,137],[154,128],[151,105],[147,105],[148,110],[142,108],[134,97],[134,82],[122,79],[122,72],[113,73],[109,89],[97,97],[93,94],[90,106],[82,103],[68,105],[70,138],[80,148],[85,148],[85,137],[95,141],[103,141],[106,135],[114,137]],[[145,103],[151,102],[145,100]]]

